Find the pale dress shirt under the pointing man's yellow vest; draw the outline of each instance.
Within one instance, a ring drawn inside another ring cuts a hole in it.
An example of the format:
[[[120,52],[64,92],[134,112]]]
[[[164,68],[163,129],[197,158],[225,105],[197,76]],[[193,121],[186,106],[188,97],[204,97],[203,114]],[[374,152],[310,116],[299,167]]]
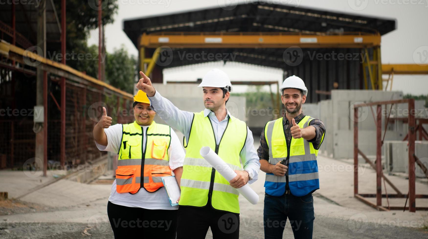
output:
[[[177,130],[181,131],[181,133],[184,134],[184,137],[186,137],[186,141],[188,143],[193,113],[188,111],[181,111],[168,99],[161,96],[158,91],[156,91],[154,96],[149,97],[149,100],[150,107],[156,111],[159,117],[172,128],[176,128]],[[219,142],[220,137],[223,135],[223,132],[227,126],[227,122],[229,121],[229,117],[231,116],[227,109],[226,113],[227,114],[225,119],[219,122],[214,112],[209,109],[204,110],[204,116],[208,116],[211,119],[214,129],[214,137],[216,138],[217,142]],[[241,154],[239,156],[241,157],[244,169],[250,171],[250,175],[252,177],[252,180],[249,181],[250,184],[257,180],[260,170],[259,156],[257,156],[256,149],[254,149],[253,141],[253,133],[247,126],[247,140],[245,141],[244,148],[241,150]]]

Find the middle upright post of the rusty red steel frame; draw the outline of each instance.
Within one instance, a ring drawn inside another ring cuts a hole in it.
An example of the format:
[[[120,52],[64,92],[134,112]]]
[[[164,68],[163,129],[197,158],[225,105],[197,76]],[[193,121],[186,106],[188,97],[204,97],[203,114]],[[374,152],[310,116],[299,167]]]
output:
[[[376,205],[382,206],[382,105],[376,111]]]

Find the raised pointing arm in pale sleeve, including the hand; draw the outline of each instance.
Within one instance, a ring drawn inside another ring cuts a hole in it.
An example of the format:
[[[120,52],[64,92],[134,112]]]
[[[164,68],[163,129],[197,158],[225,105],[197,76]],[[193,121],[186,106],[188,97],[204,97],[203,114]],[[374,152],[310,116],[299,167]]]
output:
[[[182,111],[175,107],[165,97],[161,96],[159,92],[155,90],[152,85],[152,81],[143,72],[140,71],[142,78],[137,83],[137,88],[147,93],[150,100],[150,106],[161,119],[163,119],[169,126],[176,128],[181,133],[189,138],[190,127],[192,124],[193,113],[188,111]]]

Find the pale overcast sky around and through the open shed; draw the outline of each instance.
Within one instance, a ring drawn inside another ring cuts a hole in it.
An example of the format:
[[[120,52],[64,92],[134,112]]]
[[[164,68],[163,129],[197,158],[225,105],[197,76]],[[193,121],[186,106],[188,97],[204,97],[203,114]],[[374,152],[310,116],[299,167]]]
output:
[[[137,48],[122,30],[124,19],[149,15],[168,14],[206,7],[218,7],[225,1],[235,0],[119,0],[115,22],[105,27],[108,52],[125,46],[130,54],[138,55]],[[397,20],[397,29],[382,36],[383,64],[428,64],[428,0],[270,0],[273,3],[288,3],[292,6],[324,9],[372,17]],[[237,0],[236,2],[250,2]],[[155,4],[153,4],[155,3]],[[98,44],[98,30],[91,31],[89,44]],[[187,66],[164,70],[166,80],[197,79],[212,68],[220,68],[232,80],[281,80],[282,70],[248,66],[240,63],[212,62],[198,66]],[[386,76],[384,76],[386,78]],[[388,87],[389,88],[389,87]],[[242,91],[245,88],[238,88]],[[404,93],[428,94],[428,75],[394,76],[392,90]]]

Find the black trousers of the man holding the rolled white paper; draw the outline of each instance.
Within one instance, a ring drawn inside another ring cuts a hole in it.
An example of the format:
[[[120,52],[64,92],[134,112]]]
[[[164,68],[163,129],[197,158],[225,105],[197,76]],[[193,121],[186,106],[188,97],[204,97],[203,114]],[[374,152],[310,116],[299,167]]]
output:
[[[205,207],[178,207],[177,239],[203,239],[211,227],[213,239],[239,238],[239,213]]]

